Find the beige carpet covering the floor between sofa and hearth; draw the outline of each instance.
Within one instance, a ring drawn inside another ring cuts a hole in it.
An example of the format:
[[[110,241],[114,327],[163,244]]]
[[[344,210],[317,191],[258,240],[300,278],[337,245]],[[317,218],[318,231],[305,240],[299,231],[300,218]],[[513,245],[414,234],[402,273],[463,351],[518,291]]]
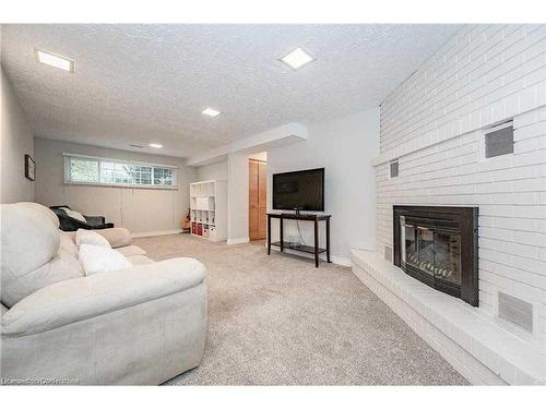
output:
[[[167,384],[466,384],[351,268],[188,234],[134,243],[154,260],[191,256],[207,269],[203,361]]]

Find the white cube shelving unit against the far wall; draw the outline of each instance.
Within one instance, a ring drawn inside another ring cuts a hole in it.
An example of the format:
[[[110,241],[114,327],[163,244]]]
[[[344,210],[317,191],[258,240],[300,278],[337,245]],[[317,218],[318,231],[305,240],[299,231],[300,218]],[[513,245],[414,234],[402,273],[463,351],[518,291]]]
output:
[[[211,241],[227,239],[227,182],[205,180],[190,183],[190,231]]]

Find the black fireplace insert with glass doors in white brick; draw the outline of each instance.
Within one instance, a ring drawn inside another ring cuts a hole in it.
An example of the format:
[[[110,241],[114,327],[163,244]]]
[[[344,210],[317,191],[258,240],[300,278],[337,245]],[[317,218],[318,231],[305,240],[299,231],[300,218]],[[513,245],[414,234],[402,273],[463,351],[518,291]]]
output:
[[[393,206],[394,264],[478,306],[477,207]]]

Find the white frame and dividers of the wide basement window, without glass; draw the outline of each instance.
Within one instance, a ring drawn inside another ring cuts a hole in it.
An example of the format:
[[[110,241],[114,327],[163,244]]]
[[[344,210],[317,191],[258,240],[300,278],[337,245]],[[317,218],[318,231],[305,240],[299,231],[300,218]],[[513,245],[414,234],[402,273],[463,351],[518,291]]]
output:
[[[178,189],[178,166],[165,165],[165,164],[151,164],[135,160],[124,160],[115,159],[100,156],[88,156],[79,154],[63,153],[63,167],[64,167],[64,184],[81,184],[81,185],[93,185],[93,187],[115,187],[115,188],[131,188],[131,189],[164,189],[164,190],[177,190]],[[82,182],[72,181],[70,173],[70,159],[93,159],[98,161],[98,182]],[[152,184],[139,184],[139,183],[104,183],[100,182],[100,163],[114,163],[120,165],[131,165],[131,166],[147,166],[152,168],[151,181]],[[154,183],[154,168],[173,169],[173,184],[153,184]]]

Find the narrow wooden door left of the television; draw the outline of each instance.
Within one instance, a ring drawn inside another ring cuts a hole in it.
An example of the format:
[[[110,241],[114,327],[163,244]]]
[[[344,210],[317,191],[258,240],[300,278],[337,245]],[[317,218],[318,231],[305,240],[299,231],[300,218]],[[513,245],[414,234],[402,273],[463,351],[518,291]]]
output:
[[[249,160],[248,227],[250,240],[265,239],[268,210],[268,167],[265,163]]]

